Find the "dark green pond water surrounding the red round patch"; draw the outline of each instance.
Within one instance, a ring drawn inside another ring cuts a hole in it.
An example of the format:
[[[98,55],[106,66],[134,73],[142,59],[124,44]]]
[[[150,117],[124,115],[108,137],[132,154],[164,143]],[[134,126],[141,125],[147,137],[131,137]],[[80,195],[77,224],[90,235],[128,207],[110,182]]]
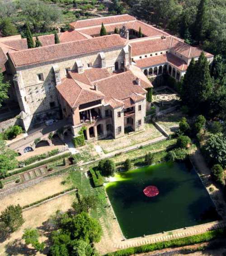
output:
[[[106,185],[108,197],[125,237],[155,234],[219,219],[205,187],[185,163],[162,163],[115,176]],[[158,187],[146,197],[143,189]]]

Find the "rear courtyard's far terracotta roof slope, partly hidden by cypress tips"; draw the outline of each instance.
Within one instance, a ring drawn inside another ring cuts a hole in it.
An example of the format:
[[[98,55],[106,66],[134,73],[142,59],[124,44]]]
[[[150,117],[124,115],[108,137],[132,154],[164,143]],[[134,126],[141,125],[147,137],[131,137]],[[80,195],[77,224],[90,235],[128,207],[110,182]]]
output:
[[[120,24],[115,24],[115,25],[104,25],[107,33],[113,33],[115,28],[120,29],[123,24],[127,26],[127,29],[132,29],[134,21],[129,21],[129,22],[122,22]],[[89,35],[98,35],[100,33],[101,25],[93,28],[86,28],[82,30],[78,30],[79,32],[89,34]]]

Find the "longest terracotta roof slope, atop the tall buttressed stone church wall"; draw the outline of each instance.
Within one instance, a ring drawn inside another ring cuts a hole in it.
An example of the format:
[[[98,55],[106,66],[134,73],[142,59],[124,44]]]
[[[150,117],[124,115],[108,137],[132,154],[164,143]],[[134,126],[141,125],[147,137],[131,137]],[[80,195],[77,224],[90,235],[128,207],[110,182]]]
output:
[[[92,39],[27,49],[14,52],[9,54],[9,56],[15,67],[21,67],[124,46],[126,42],[126,39],[123,39],[118,34],[112,34]]]

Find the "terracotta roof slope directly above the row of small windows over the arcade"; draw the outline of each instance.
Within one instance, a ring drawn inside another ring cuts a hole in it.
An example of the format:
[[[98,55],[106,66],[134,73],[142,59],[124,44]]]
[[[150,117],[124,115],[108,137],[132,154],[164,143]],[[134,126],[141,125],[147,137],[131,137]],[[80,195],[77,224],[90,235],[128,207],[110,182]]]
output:
[[[171,37],[168,36],[165,39],[155,38],[155,39],[139,39],[137,41],[129,42],[131,45],[131,55],[137,56],[146,53],[158,52],[161,50],[170,49]]]

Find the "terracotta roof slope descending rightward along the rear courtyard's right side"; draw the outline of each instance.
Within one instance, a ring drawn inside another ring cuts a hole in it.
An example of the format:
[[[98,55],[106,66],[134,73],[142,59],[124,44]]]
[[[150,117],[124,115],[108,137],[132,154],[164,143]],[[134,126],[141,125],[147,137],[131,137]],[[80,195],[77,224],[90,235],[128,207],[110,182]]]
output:
[[[141,27],[141,32],[143,35],[146,35],[146,36],[159,36],[159,35],[169,35],[168,33],[162,31],[162,30],[159,30],[159,29],[156,29],[155,27],[151,26],[151,25],[148,25],[140,20],[136,20],[134,22],[134,25],[132,26],[132,29],[133,30],[136,30],[136,31],[139,31],[139,28]]]

